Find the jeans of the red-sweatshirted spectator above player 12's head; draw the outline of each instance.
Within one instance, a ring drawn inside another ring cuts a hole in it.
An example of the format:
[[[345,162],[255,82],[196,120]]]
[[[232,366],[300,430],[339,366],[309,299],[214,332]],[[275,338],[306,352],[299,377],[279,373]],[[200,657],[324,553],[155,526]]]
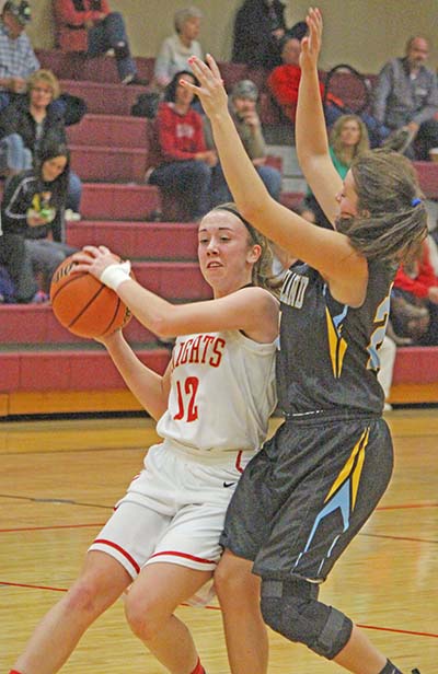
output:
[[[152,171],[149,183],[163,191],[176,191],[193,220],[203,218],[210,209],[211,168],[203,161],[161,164]]]

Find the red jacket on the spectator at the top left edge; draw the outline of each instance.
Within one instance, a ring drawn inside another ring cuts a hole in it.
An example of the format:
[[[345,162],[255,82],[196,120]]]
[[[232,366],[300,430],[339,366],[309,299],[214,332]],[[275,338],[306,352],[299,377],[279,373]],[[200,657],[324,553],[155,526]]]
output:
[[[93,8],[93,9],[92,9]],[[54,0],[58,46],[64,51],[87,51],[87,21],[110,14],[107,0]]]

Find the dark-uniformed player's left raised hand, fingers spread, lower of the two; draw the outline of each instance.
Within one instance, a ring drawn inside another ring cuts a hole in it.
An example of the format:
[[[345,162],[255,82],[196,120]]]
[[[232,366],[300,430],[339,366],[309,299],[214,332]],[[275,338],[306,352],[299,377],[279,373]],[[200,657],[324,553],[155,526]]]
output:
[[[210,54],[207,54],[206,61],[192,56],[188,62],[199,85],[183,80],[181,85],[191,89],[199,97],[206,115],[211,119],[215,115],[228,112],[228,96],[218,65]]]

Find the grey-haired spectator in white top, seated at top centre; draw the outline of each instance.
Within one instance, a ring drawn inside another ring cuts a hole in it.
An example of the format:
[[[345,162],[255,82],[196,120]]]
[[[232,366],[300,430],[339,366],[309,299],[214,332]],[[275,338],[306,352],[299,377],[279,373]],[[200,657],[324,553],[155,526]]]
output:
[[[204,58],[203,48],[197,40],[201,19],[203,12],[196,7],[175,12],[175,33],[164,39],[155,59],[153,83],[159,91],[170,84],[176,72],[192,71],[188,63],[191,56]]]

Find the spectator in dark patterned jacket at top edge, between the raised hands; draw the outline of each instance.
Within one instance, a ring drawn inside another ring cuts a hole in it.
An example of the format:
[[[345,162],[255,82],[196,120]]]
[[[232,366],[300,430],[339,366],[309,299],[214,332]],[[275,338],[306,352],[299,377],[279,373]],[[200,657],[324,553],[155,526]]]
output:
[[[231,60],[272,70],[281,62],[286,31],[280,0],[245,0],[235,14]]]

